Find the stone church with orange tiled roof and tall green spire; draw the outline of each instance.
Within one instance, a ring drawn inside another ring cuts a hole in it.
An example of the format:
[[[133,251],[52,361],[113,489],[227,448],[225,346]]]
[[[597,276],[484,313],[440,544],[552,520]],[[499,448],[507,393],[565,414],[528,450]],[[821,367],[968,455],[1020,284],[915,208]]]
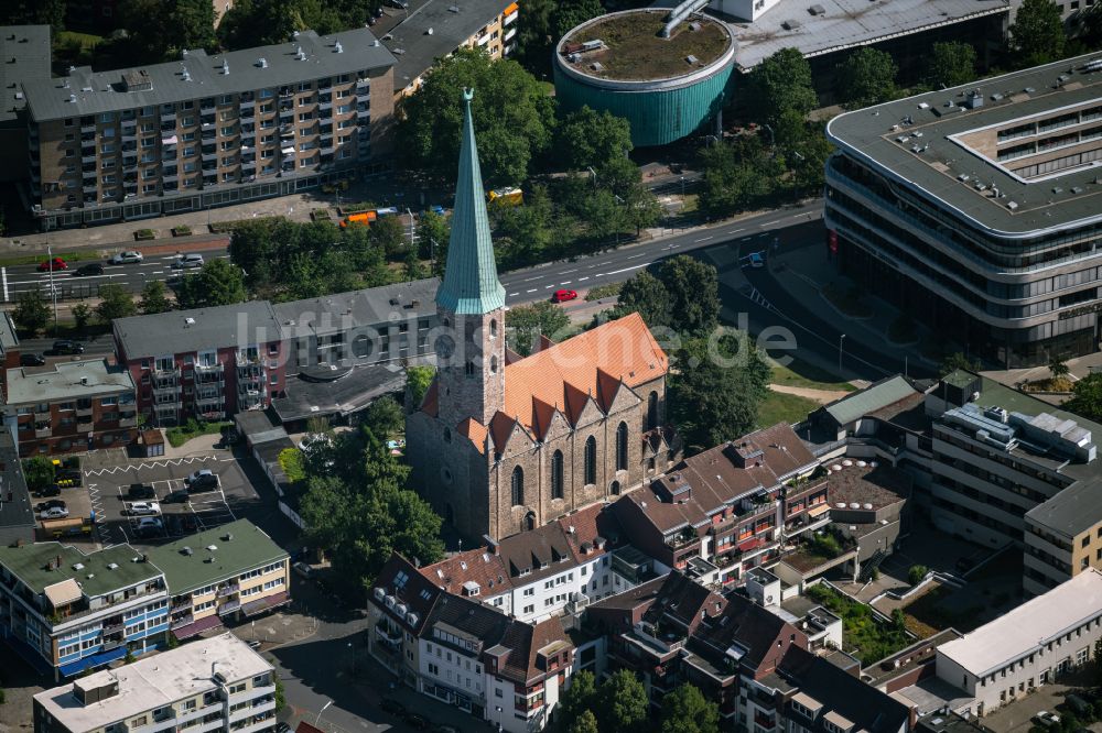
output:
[[[500,539],[642,484],[678,458],[669,360],[638,314],[521,358],[464,91],[460,177],[436,292],[436,379],[406,422],[412,485],[468,538]]]

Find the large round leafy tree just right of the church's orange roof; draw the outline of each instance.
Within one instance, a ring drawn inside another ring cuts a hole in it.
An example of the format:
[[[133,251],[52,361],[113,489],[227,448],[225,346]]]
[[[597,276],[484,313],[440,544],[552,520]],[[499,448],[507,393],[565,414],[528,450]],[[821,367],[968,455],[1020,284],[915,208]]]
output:
[[[745,333],[688,341],[670,375],[670,413],[694,451],[746,435],[757,424],[769,365]]]

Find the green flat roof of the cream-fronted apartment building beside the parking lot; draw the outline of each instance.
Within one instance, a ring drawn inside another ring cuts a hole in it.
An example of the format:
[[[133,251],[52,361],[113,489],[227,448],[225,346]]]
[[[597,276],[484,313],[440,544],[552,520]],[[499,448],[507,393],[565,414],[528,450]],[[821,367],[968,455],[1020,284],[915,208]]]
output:
[[[210,546],[217,549],[208,550]],[[192,549],[191,555],[186,554],[185,547]],[[154,547],[148,555],[149,561],[164,572],[172,595],[191,593],[197,588],[288,557],[287,550],[248,519],[238,519]],[[210,557],[214,561],[207,562]]]

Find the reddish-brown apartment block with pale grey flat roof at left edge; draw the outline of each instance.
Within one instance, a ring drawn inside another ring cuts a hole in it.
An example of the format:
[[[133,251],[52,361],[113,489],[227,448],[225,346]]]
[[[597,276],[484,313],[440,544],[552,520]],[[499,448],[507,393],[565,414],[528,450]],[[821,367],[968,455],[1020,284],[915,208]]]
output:
[[[128,446],[138,438],[134,380],[106,359],[7,370],[4,423],[22,456]]]

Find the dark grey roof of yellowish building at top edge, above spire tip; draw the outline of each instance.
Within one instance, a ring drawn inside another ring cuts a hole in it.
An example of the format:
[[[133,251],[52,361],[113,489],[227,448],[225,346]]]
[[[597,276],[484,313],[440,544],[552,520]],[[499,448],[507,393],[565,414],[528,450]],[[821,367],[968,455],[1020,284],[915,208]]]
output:
[[[454,53],[483,25],[500,15],[510,2],[429,0],[411,10],[409,18],[382,36],[382,43],[396,56],[395,92],[412,84],[437,58]],[[432,35],[429,35],[429,29],[432,29]]]

